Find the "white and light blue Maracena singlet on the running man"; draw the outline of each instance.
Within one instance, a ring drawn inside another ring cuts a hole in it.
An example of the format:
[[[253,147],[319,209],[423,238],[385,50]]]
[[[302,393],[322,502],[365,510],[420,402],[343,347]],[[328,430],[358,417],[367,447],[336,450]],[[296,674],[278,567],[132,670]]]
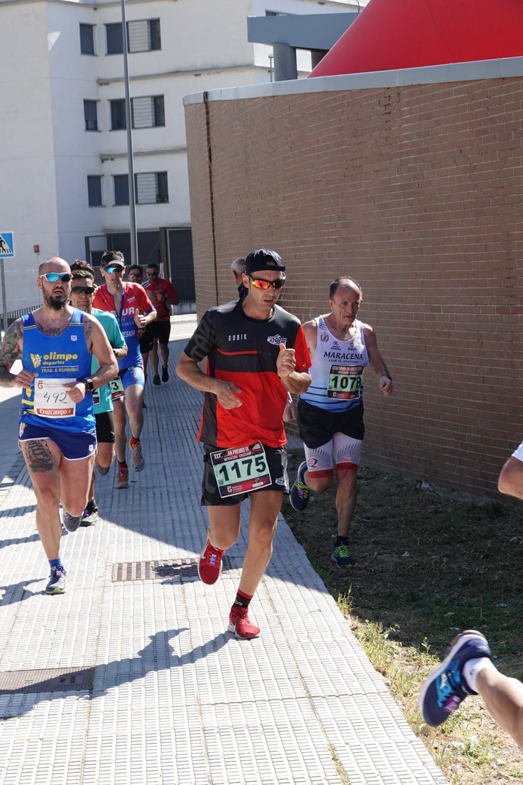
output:
[[[356,319],[356,334],[340,341],[322,316],[316,321],[316,351],[309,372],[313,382],[300,398],[327,411],[347,411],[363,399],[363,372],[368,364],[364,327]]]

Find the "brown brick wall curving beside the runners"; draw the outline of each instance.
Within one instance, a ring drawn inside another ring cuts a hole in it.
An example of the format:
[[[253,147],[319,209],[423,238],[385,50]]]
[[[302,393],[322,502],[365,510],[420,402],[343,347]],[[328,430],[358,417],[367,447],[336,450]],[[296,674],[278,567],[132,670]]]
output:
[[[366,373],[364,461],[481,495],[523,438],[522,87],[186,107],[199,315],[234,297],[230,263],[259,246],[283,256],[282,305],[303,320],[353,276],[395,384],[386,399]]]

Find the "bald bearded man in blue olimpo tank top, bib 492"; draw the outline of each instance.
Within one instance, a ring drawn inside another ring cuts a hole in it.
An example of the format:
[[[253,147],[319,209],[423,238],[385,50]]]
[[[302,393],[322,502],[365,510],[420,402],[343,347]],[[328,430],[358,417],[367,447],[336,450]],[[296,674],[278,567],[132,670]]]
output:
[[[0,385],[21,387],[19,444],[36,496],[36,526],[49,559],[48,594],[63,594],[60,507],[64,525],[82,520],[96,454],[93,390],[118,374],[101,325],[68,305],[71,270],[59,257],[38,268],[42,305],[7,330],[0,347]],[[99,368],[91,374],[91,359]],[[12,374],[15,360],[22,371]]]

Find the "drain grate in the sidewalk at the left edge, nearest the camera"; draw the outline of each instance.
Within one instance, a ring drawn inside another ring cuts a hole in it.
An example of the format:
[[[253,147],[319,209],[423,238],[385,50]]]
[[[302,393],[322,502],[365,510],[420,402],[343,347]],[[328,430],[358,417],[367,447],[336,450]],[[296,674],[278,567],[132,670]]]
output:
[[[0,695],[6,692],[89,690],[94,668],[40,668],[0,672]]]

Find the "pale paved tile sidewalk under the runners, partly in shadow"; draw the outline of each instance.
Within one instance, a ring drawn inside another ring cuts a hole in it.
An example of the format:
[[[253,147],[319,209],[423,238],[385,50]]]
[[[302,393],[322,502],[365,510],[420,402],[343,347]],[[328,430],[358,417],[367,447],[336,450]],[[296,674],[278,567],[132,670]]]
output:
[[[64,532],[68,592],[48,566],[16,459],[0,494],[0,785],[445,783],[280,519],[251,604],[255,641],[226,632],[246,548],[199,581],[201,397],[174,364],[148,383],[146,466],[97,477],[101,518]],[[24,685],[26,685],[24,687]]]

